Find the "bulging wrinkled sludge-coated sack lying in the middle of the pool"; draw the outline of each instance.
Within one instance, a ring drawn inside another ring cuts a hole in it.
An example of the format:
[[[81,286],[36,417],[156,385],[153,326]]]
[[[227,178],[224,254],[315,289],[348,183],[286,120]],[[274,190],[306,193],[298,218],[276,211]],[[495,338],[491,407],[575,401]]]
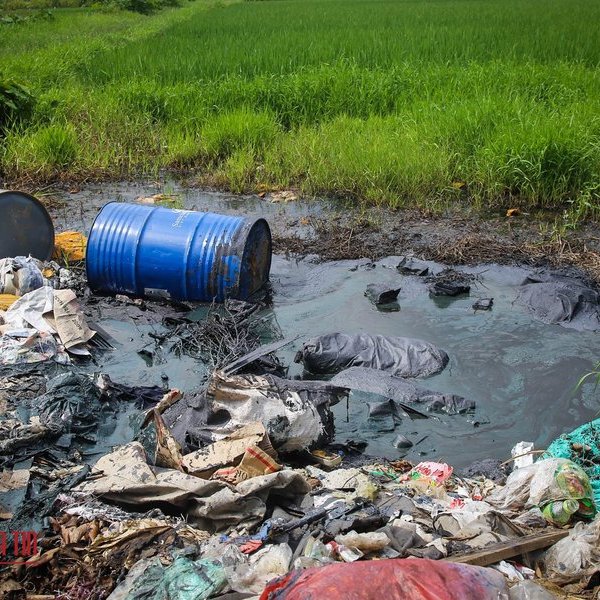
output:
[[[398,377],[428,377],[442,371],[448,355],[429,342],[360,333],[330,333],[304,343],[295,361],[310,373],[369,367]]]

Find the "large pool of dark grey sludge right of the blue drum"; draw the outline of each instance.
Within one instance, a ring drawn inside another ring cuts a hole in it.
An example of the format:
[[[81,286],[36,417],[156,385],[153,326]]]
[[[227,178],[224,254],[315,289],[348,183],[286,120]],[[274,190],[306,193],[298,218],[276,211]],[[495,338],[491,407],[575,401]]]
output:
[[[403,434],[414,444],[423,440],[406,458],[426,456],[460,467],[485,457],[508,458],[520,440],[543,449],[595,417],[599,402],[594,384],[575,388],[593,367],[600,338],[532,320],[515,302],[529,270],[497,265],[468,269],[477,274],[470,295],[448,298],[431,297],[422,278],[397,272],[398,263],[397,257],[374,267],[368,261],[311,264],[279,258],[272,281],[274,311],[284,334],[368,332],[433,342],[449,354],[450,362],[438,375],[415,383],[472,399],[477,408],[471,414],[404,418],[394,427],[391,419],[368,418],[373,395],[353,392],[348,412],[345,405],[334,408],[338,441],[364,440],[369,454],[393,458],[401,453],[393,441]],[[401,288],[399,310],[382,311],[364,297],[374,282]],[[494,298],[490,311],[473,310],[476,299],[489,297]],[[285,354],[291,362],[293,350]],[[301,375],[301,366],[293,365],[290,373]]]

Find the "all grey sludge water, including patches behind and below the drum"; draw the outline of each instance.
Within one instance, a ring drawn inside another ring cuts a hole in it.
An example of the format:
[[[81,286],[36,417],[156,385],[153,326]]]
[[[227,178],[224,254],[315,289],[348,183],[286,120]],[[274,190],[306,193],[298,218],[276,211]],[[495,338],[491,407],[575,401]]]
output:
[[[126,201],[149,195],[140,188],[126,192],[122,195]],[[66,209],[54,215],[59,229],[87,231],[96,209],[114,196],[94,193],[83,194],[81,199],[85,211],[79,215]],[[185,208],[273,219],[281,211],[300,218],[325,210],[318,203],[281,206],[197,191],[186,192],[183,200]],[[428,413],[429,419],[404,416],[394,423],[386,418],[369,419],[368,402],[381,397],[352,392],[348,407],[334,407],[337,441],[366,441],[366,452],[371,455],[444,460],[461,467],[486,457],[507,459],[520,440],[533,441],[543,449],[561,433],[597,416],[600,402],[594,382],[575,388],[600,356],[600,336],[534,320],[516,301],[531,269],[495,265],[462,269],[477,276],[470,294],[449,298],[432,297],[422,277],[401,275],[396,270],[399,262],[399,257],[375,264],[274,257],[273,305],[266,310],[273,313],[285,337],[300,336],[278,353],[289,365],[289,376],[314,377],[303,374],[302,366],[293,362],[302,341],[310,337],[344,332],[419,338],[445,350],[450,362],[441,373],[415,383],[472,399],[477,408],[460,415]],[[400,287],[399,309],[384,311],[374,306],[364,296],[371,283]],[[492,309],[474,311],[472,305],[479,298],[493,298]],[[199,309],[196,316],[202,318],[205,311]],[[130,385],[161,385],[161,375],[167,375],[169,386],[185,392],[203,384],[205,366],[189,357],[176,357],[166,344],[152,360],[138,354],[155,347],[152,335],[165,333],[162,325],[119,320],[115,315],[100,319],[100,324],[119,345],[85,370],[102,370],[114,381]],[[112,443],[126,441],[130,435],[115,434],[109,436]],[[399,434],[415,445],[396,449],[394,440]]]

